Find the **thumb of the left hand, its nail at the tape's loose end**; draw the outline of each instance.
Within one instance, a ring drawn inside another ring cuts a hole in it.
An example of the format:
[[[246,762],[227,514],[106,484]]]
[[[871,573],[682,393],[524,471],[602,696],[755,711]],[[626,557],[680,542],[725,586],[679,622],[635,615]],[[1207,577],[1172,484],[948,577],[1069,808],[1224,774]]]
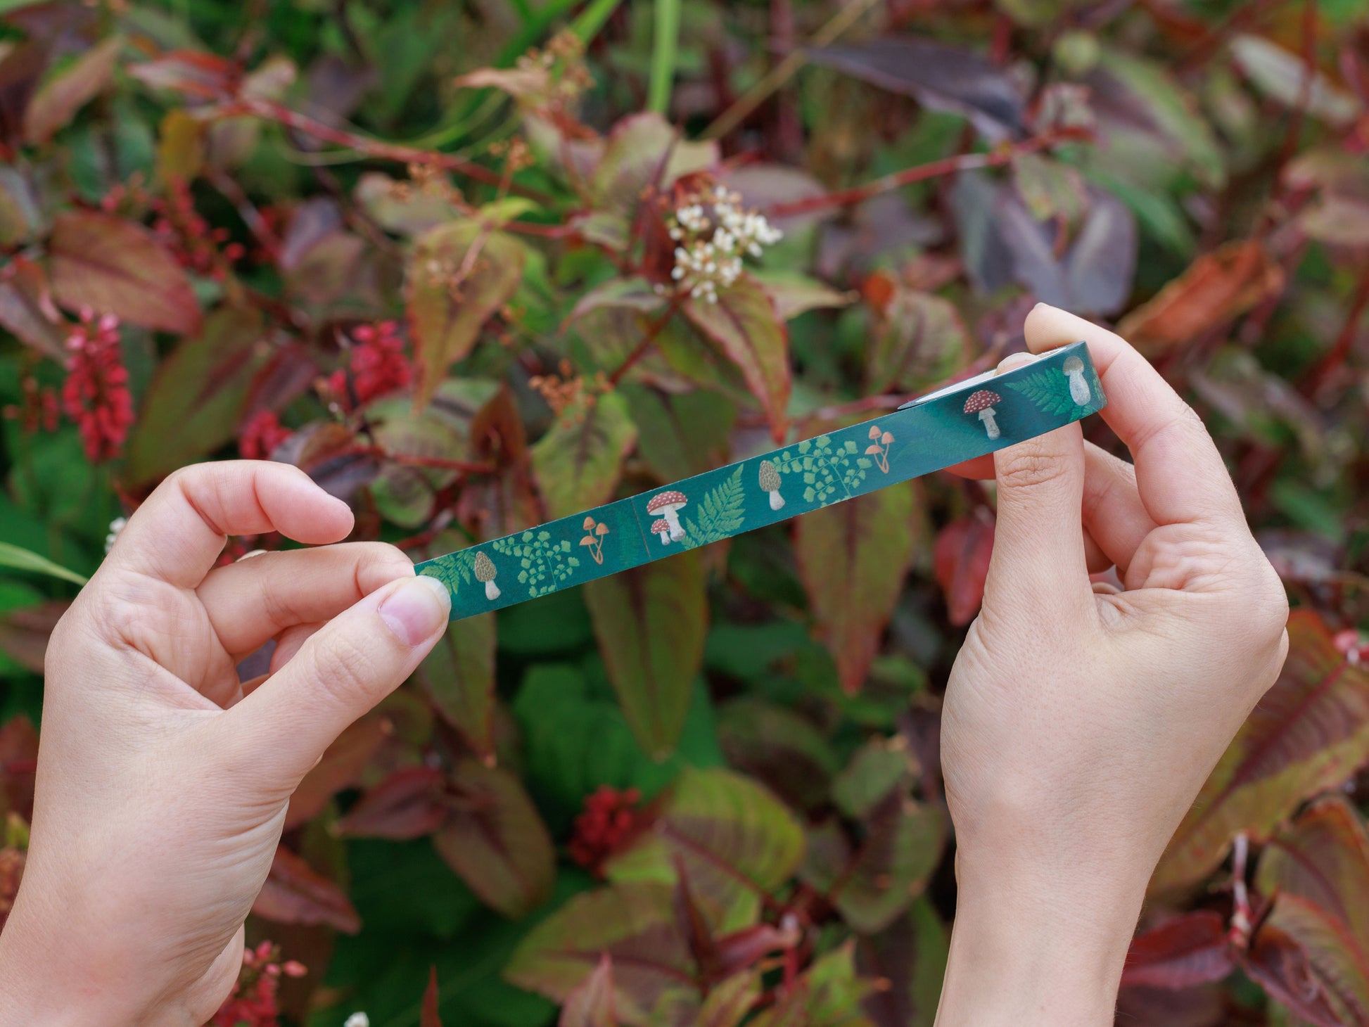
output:
[[[437,579],[376,589],[311,635],[279,671],[227,711],[255,765],[303,778],[342,730],[413,672],[446,630],[452,597]]]

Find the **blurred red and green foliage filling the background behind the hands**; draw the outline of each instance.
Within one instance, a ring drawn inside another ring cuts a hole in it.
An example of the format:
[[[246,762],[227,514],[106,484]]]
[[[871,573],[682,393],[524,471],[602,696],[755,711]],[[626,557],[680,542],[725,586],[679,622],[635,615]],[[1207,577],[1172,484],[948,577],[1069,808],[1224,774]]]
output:
[[[1369,1023],[1362,3],[0,12],[0,923],[48,634],[177,467],[294,463],[422,557],[872,416],[1046,300],[1194,403],[1296,607],[1121,1017]],[[932,475],[453,624],[294,797],[215,1023],[930,1024],[993,534]]]

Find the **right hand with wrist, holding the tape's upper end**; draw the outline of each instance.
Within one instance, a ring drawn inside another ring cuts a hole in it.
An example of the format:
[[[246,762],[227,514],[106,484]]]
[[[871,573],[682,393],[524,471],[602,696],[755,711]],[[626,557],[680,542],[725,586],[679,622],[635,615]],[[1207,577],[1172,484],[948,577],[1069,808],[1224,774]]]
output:
[[[941,1027],[1112,1024],[1150,874],[1288,646],[1202,422],[1113,333],[1027,316],[1034,352],[1075,340],[1135,466],[1079,424],[993,457],[984,604],[942,718],[960,897]],[[1091,583],[1110,566],[1123,590]]]

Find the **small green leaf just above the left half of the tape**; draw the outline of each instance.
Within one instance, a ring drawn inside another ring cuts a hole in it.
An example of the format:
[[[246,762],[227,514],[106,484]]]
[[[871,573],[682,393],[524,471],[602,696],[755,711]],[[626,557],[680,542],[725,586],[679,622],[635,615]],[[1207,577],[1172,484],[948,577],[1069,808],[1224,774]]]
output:
[[[533,446],[533,474],[546,512],[567,518],[608,503],[634,442],[637,426],[616,392],[563,409]]]

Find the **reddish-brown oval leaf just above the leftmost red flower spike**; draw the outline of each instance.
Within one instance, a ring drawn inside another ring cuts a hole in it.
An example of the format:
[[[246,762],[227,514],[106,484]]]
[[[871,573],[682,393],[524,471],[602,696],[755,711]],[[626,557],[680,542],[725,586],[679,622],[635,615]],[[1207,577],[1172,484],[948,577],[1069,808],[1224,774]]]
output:
[[[185,271],[141,225],[94,211],[60,214],[48,252],[57,303],[148,329],[200,330],[200,305]]]

